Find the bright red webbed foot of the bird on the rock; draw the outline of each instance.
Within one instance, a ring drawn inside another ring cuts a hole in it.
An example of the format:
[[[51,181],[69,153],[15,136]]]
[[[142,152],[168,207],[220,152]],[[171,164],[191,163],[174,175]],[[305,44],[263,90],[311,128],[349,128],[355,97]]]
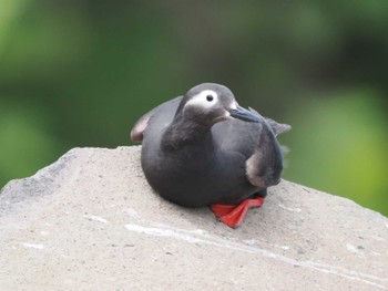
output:
[[[263,197],[245,199],[239,205],[213,204],[211,209],[217,219],[231,228],[237,228],[249,208],[259,207],[264,204]]]

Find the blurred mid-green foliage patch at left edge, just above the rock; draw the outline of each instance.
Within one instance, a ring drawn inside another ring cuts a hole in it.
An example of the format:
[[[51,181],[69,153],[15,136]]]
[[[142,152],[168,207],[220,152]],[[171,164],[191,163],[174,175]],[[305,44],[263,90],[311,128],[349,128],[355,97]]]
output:
[[[41,108],[0,103],[0,185],[22,178],[53,162],[64,150]]]

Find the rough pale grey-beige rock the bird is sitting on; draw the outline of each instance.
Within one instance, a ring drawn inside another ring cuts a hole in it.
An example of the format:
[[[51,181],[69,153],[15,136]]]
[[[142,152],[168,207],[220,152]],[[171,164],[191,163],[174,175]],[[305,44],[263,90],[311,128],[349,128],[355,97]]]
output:
[[[1,290],[388,290],[388,219],[289,181],[229,229],[161,199],[140,147],[75,148],[0,193]]]

